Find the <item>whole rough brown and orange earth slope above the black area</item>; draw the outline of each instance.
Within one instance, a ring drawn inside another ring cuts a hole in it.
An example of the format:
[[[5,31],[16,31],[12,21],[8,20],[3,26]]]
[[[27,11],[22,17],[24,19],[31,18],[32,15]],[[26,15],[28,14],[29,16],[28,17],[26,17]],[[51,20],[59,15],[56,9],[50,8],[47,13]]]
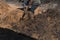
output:
[[[59,0],[58,0],[59,1]],[[40,14],[29,18],[32,14],[21,20],[24,11],[9,6],[5,3],[3,10],[0,8],[0,27],[8,28],[15,32],[23,33],[37,40],[60,40],[60,5],[51,2],[40,6]],[[13,9],[12,9],[13,8]],[[5,10],[5,11],[4,11]],[[2,13],[3,11],[3,13]],[[7,12],[6,12],[7,11]],[[4,16],[3,16],[4,15]]]

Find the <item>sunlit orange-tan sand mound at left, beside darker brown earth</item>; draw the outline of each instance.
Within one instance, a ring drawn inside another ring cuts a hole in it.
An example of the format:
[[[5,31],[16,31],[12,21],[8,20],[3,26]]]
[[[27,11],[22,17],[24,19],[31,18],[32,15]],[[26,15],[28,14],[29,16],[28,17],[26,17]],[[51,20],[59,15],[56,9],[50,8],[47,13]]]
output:
[[[7,3],[0,1],[0,27],[9,28],[11,26],[10,23],[18,22],[22,15],[22,10],[11,7]]]

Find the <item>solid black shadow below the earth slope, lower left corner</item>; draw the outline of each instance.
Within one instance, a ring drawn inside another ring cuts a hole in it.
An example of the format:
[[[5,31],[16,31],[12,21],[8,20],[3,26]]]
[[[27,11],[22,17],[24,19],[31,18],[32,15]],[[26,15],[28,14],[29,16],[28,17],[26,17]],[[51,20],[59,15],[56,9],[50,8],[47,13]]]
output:
[[[0,40],[36,40],[27,35],[0,28]]]

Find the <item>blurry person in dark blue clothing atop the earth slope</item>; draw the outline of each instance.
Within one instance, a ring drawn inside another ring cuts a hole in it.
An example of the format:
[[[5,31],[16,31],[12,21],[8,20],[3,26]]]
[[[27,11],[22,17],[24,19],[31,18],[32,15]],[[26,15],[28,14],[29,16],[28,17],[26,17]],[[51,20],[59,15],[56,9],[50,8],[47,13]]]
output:
[[[24,15],[22,18],[24,18],[28,10],[34,13],[34,10],[40,5],[40,3],[40,0],[24,0]]]

